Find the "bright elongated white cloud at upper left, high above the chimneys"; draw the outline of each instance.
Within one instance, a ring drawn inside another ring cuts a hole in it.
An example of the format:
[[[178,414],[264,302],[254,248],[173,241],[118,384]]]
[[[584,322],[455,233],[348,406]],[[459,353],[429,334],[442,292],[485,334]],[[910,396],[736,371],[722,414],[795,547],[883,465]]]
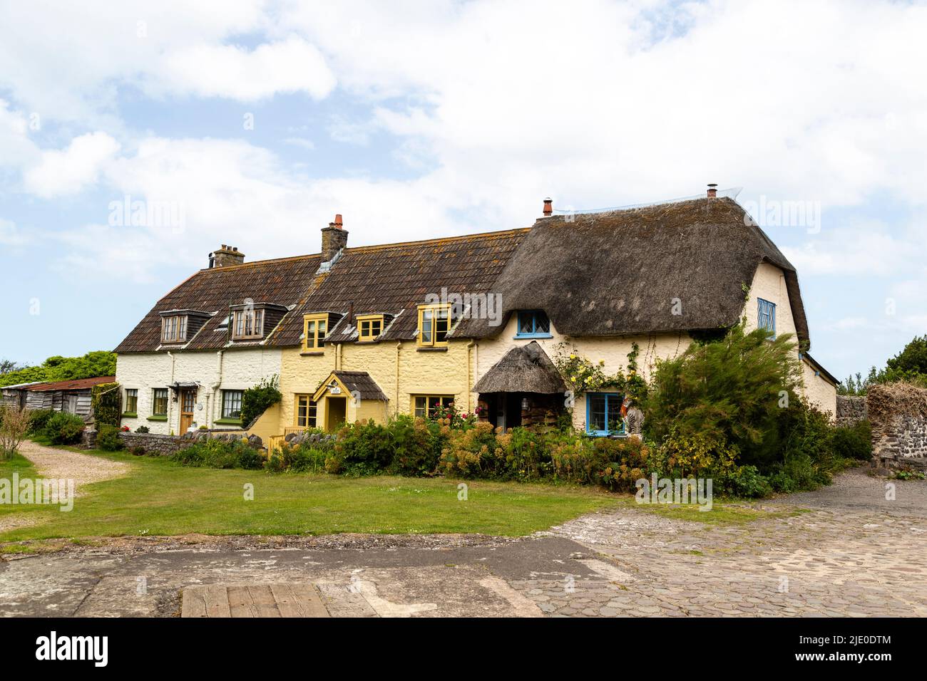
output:
[[[298,38],[261,44],[252,51],[197,44],[173,50],[164,63],[159,81],[166,90],[243,102],[296,92],[321,99],[336,85],[322,54]]]

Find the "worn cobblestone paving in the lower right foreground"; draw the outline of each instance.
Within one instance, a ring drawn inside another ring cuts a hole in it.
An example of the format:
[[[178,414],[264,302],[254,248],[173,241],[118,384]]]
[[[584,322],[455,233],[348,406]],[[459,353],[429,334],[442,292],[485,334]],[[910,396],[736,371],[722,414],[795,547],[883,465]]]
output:
[[[765,503],[774,515],[743,525],[637,509],[583,516],[549,534],[588,547],[587,558],[599,560],[583,564],[594,570],[608,561],[617,575],[571,577],[565,561],[563,573],[512,586],[551,616],[927,615],[927,505],[860,504],[847,489],[877,489],[883,498],[885,481],[846,475],[842,486]],[[927,489],[898,486],[909,502]],[[843,504],[834,500],[842,494]]]

